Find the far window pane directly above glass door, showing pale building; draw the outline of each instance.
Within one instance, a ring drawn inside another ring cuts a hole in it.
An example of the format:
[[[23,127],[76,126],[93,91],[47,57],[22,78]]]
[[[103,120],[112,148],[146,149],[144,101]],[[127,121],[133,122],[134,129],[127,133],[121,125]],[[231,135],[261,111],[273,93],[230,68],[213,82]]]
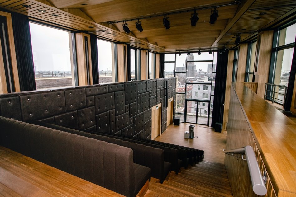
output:
[[[212,84],[188,84],[186,98],[198,100],[210,100]]]

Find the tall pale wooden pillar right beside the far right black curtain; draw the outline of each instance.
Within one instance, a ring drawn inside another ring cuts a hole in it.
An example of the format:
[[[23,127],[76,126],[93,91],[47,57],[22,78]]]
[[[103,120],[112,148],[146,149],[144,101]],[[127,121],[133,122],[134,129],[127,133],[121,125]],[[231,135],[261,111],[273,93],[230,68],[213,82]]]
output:
[[[229,50],[228,63],[227,63],[226,88],[225,88],[224,115],[223,115],[223,129],[224,130],[227,129],[227,122],[228,122],[233,60],[234,60],[234,50]]]

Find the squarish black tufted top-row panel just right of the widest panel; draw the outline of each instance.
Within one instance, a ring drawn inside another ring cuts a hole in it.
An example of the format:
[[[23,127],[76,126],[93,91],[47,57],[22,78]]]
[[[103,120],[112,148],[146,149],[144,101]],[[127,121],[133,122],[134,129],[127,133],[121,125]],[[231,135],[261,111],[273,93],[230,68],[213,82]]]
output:
[[[67,112],[85,108],[85,88],[65,90],[65,99]]]

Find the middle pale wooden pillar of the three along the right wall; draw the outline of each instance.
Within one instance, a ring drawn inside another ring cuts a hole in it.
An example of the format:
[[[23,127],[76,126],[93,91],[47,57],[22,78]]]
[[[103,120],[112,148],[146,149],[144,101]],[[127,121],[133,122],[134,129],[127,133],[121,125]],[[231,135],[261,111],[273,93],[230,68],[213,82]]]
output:
[[[248,56],[248,44],[240,44],[238,63],[237,63],[237,74],[236,74],[237,82],[245,81],[247,56]],[[228,72],[227,72],[227,75],[228,75]]]

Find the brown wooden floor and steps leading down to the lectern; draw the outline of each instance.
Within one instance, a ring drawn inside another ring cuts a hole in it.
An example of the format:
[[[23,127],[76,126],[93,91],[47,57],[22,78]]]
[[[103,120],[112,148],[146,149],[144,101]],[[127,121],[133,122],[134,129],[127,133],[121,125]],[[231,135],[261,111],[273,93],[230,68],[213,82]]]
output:
[[[189,166],[175,175],[170,173],[168,181],[163,184],[151,178],[149,190],[145,197],[150,196],[196,196],[196,197],[230,197],[232,191],[224,167],[226,133],[214,132],[210,127],[195,125],[195,138],[185,139],[184,131],[189,124],[170,125],[167,130],[155,140],[178,144],[186,147],[204,150],[204,161]]]

